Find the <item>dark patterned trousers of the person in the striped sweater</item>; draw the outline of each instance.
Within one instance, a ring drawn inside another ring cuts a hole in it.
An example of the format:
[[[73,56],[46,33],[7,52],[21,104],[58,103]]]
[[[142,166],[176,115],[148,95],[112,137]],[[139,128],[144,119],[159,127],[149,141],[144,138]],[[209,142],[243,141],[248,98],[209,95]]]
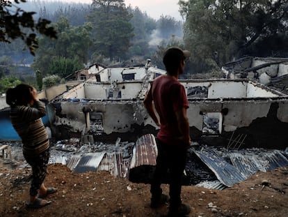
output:
[[[30,187],[31,196],[35,196],[38,194],[38,190],[46,177],[49,156],[49,149],[43,151],[39,156],[31,157],[24,155],[25,160],[32,167],[32,181]]]

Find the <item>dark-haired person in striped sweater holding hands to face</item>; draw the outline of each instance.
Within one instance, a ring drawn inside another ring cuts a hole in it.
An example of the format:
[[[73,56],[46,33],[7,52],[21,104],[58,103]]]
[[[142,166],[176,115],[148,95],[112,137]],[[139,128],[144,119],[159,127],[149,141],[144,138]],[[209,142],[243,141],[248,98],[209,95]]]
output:
[[[22,140],[23,155],[32,167],[28,208],[41,208],[50,204],[42,198],[55,193],[57,188],[46,188],[44,179],[49,161],[49,137],[41,117],[46,114],[45,104],[38,99],[36,89],[28,84],[19,84],[6,91],[6,103],[10,105],[10,119]]]

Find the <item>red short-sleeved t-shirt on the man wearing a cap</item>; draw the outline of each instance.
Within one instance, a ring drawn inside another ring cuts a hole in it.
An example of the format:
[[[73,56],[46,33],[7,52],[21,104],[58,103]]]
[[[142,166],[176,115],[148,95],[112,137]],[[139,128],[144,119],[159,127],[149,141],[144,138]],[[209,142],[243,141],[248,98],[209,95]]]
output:
[[[161,75],[154,80],[151,93],[161,123],[157,138],[166,144],[177,144],[175,138],[180,133],[175,112],[189,107],[183,85],[175,77]]]

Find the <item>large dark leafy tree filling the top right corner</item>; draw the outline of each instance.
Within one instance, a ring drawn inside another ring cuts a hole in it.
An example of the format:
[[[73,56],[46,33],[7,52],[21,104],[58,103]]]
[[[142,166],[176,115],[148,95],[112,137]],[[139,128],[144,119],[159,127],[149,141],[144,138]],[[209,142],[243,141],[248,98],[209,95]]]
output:
[[[184,42],[199,71],[247,54],[261,55],[255,49],[267,38],[288,39],[287,0],[189,0],[179,5],[186,17]]]

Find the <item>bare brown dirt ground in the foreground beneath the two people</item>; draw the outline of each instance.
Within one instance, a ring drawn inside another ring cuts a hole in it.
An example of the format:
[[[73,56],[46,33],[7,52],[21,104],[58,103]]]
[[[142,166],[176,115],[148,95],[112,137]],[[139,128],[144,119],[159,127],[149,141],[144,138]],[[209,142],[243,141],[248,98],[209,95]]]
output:
[[[74,173],[61,164],[49,165],[46,186],[58,192],[51,204],[26,209],[29,169],[0,169],[0,216],[165,216],[168,204],[150,209],[150,185],[112,177],[109,172]],[[262,181],[268,186],[263,188]],[[168,193],[168,185],[163,185]],[[287,216],[288,167],[258,172],[225,190],[183,186],[182,200],[191,205],[190,216]]]

